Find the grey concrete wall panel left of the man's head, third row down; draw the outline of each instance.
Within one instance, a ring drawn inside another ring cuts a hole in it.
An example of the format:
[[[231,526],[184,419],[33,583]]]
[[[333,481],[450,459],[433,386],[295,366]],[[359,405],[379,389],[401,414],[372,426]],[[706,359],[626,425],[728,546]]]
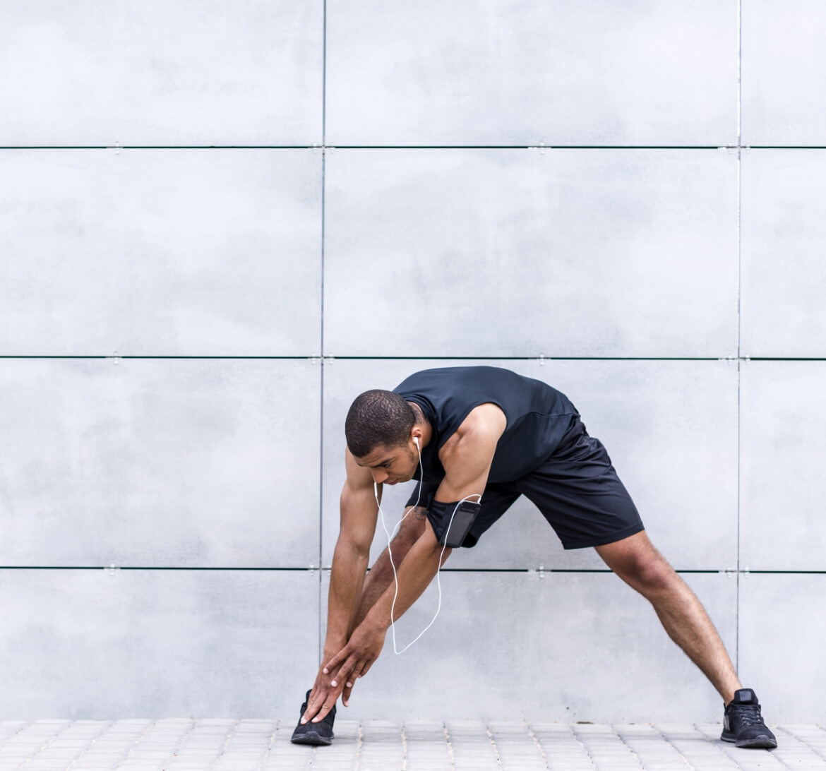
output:
[[[0,564],[318,564],[320,367],[0,360]]]

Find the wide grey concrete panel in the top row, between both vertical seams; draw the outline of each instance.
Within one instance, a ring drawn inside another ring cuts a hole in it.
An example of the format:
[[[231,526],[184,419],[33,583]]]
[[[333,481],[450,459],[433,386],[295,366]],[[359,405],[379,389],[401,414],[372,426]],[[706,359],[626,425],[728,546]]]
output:
[[[737,83],[733,0],[327,9],[334,145],[727,145]]]

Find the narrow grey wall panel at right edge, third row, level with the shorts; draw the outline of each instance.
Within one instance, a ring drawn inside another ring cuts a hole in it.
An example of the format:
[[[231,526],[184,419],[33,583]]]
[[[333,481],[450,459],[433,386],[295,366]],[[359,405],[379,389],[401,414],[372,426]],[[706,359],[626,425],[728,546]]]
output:
[[[740,390],[740,564],[826,570],[826,362],[751,361]]]

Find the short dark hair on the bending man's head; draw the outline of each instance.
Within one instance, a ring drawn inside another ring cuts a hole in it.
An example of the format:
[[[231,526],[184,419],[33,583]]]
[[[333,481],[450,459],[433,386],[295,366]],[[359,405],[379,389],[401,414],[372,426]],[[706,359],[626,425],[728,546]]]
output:
[[[356,397],[344,421],[347,446],[357,458],[377,447],[405,445],[415,426],[415,412],[404,397],[374,388]]]

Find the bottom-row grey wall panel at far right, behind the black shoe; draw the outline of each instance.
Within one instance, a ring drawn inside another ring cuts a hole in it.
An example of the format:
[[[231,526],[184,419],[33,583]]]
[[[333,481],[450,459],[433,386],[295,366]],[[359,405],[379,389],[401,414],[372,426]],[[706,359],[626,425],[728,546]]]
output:
[[[769,723],[823,726],[824,593],[823,573],[740,579],[740,678],[757,692]]]

